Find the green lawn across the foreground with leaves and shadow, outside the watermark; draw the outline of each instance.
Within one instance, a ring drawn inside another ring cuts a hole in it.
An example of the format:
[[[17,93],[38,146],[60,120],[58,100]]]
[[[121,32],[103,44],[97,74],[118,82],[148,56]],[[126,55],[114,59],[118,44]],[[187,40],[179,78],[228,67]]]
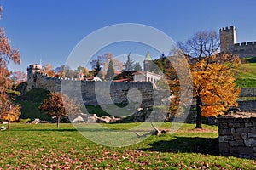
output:
[[[127,129],[139,123],[104,124]],[[169,128],[171,123],[163,123]],[[0,169],[255,169],[256,161],[218,156],[218,127],[183,124],[174,134],[135,145],[107,147],[85,139],[72,124],[12,123],[0,132]],[[99,136],[101,138],[101,136]]]

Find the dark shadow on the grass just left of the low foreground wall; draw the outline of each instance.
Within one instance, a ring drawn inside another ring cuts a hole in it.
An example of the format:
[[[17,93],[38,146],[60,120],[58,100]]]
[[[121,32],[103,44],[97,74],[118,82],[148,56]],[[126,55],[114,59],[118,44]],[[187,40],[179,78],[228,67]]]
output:
[[[182,152],[182,153],[201,153],[219,156],[218,138],[188,138],[175,137],[172,140],[160,140],[149,144],[150,148],[143,148],[144,151],[160,152]]]

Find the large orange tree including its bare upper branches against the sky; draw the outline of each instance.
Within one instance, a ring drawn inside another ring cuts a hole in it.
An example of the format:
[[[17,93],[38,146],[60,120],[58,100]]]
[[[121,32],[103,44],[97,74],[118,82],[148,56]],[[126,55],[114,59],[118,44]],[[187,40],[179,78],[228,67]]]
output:
[[[230,106],[236,105],[240,89],[235,88],[233,68],[240,65],[241,59],[233,54],[218,54],[220,43],[215,31],[196,32],[178,46],[190,64],[196,128],[201,128],[201,116],[222,115]]]

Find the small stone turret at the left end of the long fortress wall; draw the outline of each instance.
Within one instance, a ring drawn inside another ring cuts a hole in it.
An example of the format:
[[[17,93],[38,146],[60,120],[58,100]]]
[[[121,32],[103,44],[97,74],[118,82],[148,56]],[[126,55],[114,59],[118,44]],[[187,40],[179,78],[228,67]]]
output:
[[[27,67],[27,87],[26,90],[30,91],[32,88],[36,88],[35,74],[42,72],[42,65],[33,64]]]

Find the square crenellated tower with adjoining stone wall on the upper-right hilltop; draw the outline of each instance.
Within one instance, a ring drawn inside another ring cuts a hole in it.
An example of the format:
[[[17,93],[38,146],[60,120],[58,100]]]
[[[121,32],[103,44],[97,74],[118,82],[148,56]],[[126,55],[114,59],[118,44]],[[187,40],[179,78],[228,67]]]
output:
[[[219,29],[219,39],[221,52],[237,54],[240,57],[256,56],[256,41],[237,43],[235,26]]]

